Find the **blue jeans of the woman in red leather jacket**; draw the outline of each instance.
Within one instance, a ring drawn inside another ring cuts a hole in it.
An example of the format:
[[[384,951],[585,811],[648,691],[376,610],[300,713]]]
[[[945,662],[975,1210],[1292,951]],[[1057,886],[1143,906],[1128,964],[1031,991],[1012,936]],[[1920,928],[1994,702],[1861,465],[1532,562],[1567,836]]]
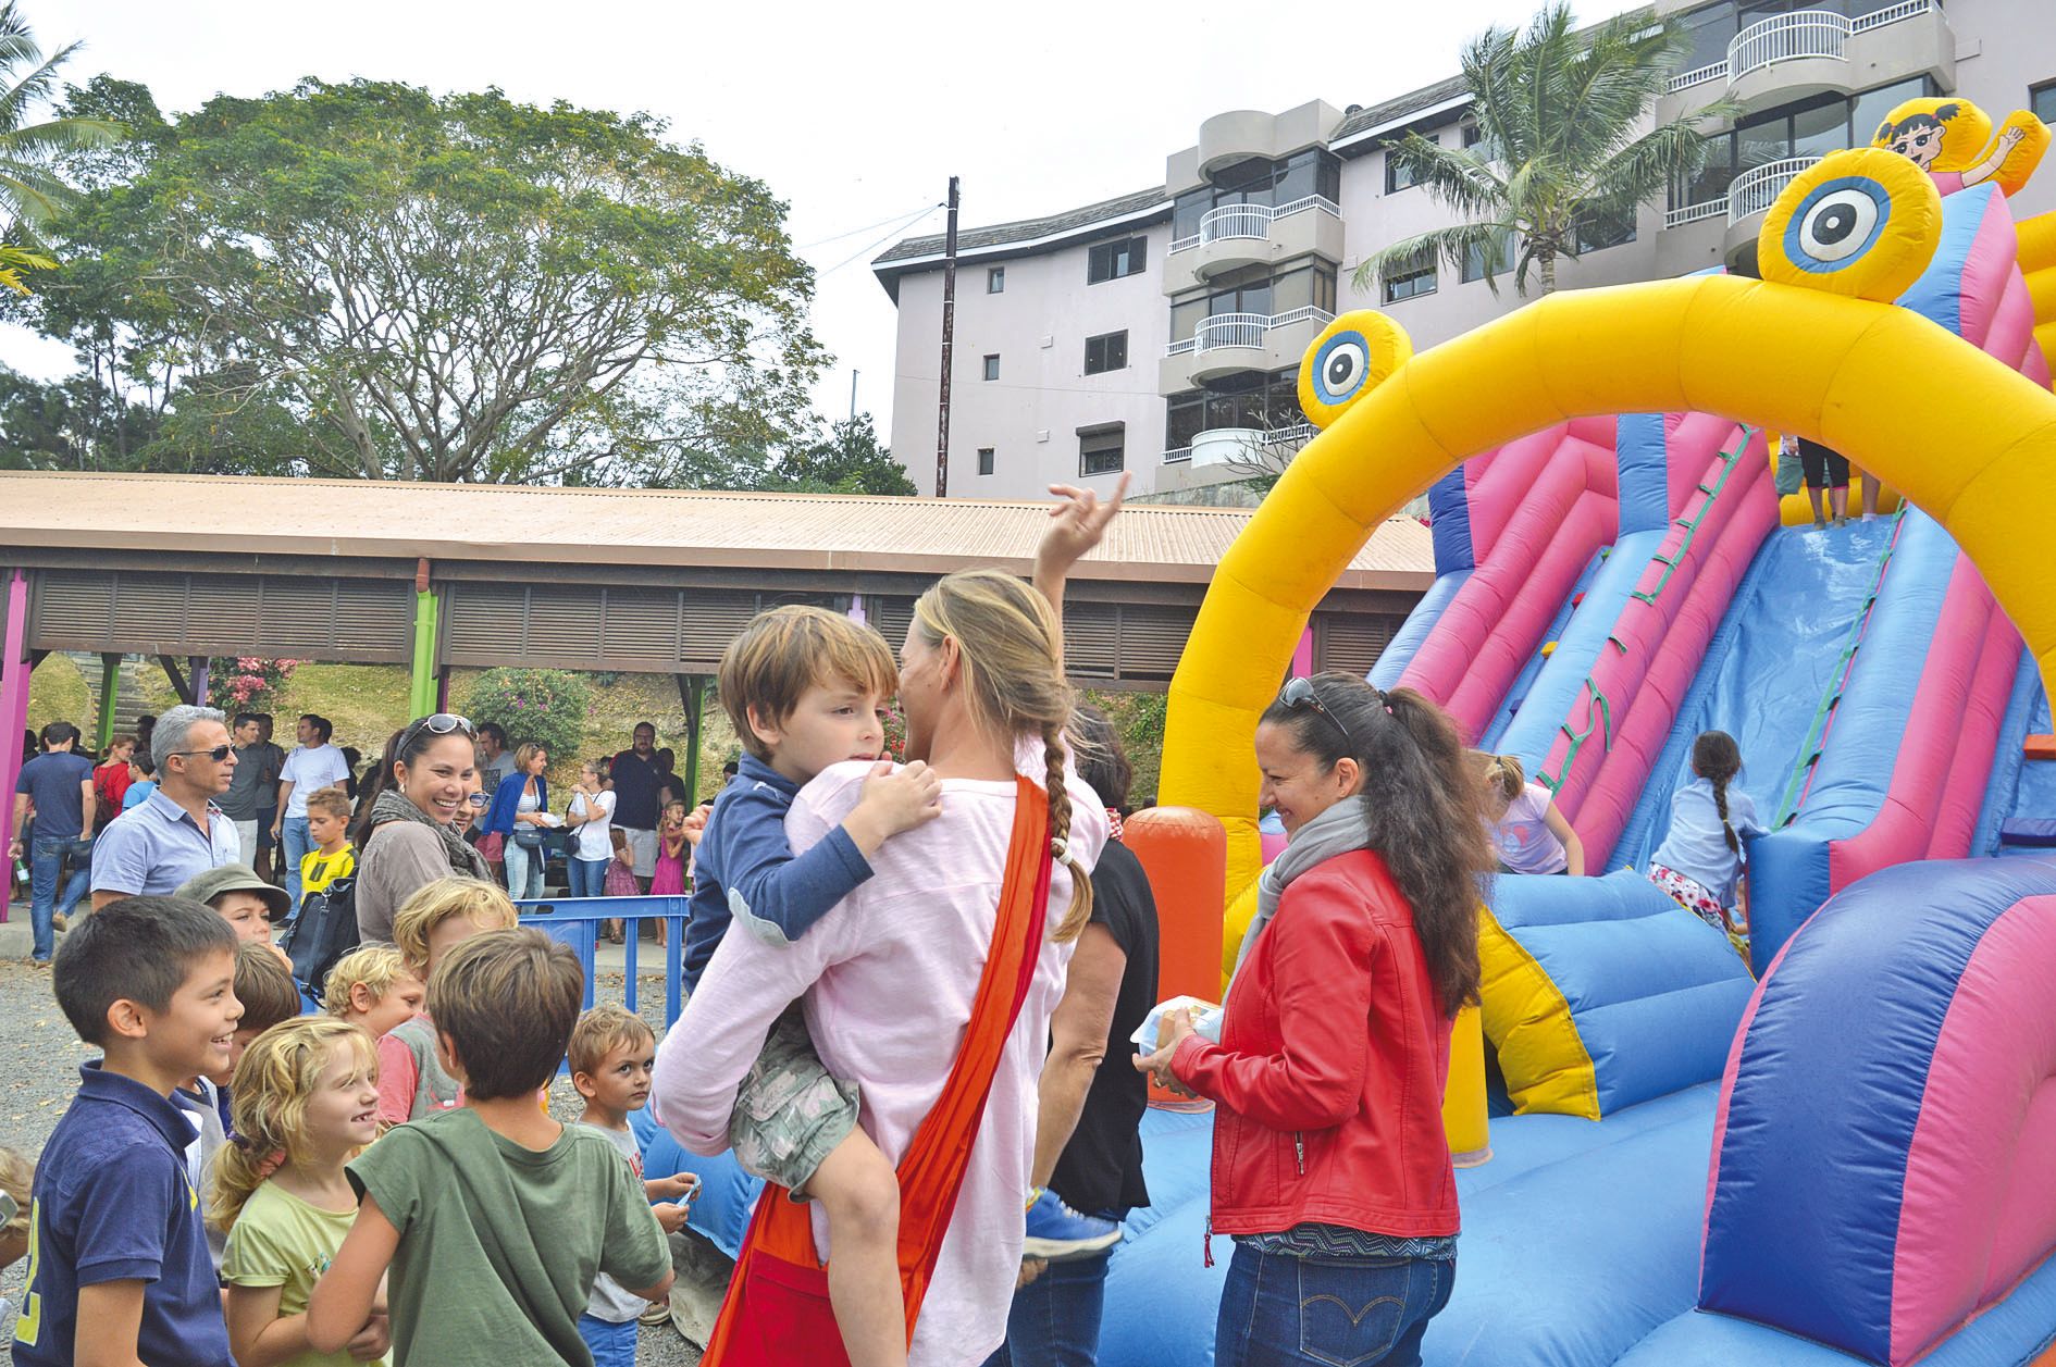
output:
[[[1293,1258],[1236,1246],[1213,1330],[1215,1367],[1421,1367],[1456,1260]]]

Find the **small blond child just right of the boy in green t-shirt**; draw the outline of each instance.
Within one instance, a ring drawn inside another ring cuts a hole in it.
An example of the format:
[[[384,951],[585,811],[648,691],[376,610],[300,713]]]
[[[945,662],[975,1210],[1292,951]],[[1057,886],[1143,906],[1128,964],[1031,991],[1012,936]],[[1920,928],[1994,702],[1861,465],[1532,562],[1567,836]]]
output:
[[[641,1178],[650,1213],[664,1233],[685,1225],[689,1198],[699,1178],[681,1172],[670,1178],[644,1178],[641,1145],[629,1129],[629,1112],[650,1100],[650,1067],[656,1063],[656,1034],[617,1005],[598,1005],[578,1018],[572,1030],[572,1085],[586,1100],[580,1124],[596,1129],[607,1143],[621,1149],[629,1170]],[[592,1348],[594,1367],[635,1363],[635,1322],[650,1301],[635,1295],[604,1272],[592,1287],[586,1314],[578,1318],[578,1334]]]

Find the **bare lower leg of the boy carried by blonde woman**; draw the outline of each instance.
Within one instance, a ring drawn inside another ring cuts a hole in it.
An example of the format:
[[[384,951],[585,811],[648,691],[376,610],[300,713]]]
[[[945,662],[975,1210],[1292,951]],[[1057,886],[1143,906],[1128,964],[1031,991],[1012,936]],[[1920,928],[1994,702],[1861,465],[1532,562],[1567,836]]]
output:
[[[835,1145],[806,1194],[829,1217],[829,1305],[849,1367],[907,1367],[898,1281],[898,1174],[864,1131]]]

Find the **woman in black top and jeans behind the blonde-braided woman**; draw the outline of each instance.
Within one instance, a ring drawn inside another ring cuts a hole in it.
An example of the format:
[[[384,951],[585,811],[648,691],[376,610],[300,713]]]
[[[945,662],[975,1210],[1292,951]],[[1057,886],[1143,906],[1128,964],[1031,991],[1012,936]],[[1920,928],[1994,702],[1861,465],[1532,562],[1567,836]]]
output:
[[[1129,1038],[1155,1001],[1158,913],[1141,861],[1121,843],[1135,771],[1098,707],[1071,715],[1071,750],[1114,839],[1092,865],[1092,921],[1049,1020],[1022,1246],[1028,1285],[1014,1293],[1007,1340],[987,1367],[1090,1367],[1108,1254],[1129,1211],[1149,1205],[1141,1139],[1149,1083],[1129,1067]]]

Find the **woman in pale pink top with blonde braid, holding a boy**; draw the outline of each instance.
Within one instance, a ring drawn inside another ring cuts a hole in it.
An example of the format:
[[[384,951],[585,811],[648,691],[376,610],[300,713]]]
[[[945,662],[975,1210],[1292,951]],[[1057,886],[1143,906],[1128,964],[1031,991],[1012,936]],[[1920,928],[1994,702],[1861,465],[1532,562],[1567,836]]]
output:
[[[859,1124],[888,1161],[903,1166],[909,1205],[901,1227],[915,1233],[903,1248],[927,1244],[931,1268],[909,1283],[907,1295],[909,1363],[972,1367],[1005,1336],[1051,1011],[1063,995],[1071,944],[1086,929],[1088,874],[1108,822],[1098,798],[1071,773],[1063,732],[1073,699],[1057,613],[1028,584],[997,571],[952,574],[935,584],[915,604],[898,687],[907,759],[925,761],[942,779],[942,816],[880,845],[874,876],[798,941],[773,948],[757,935],[726,935],[664,1040],[654,1100],[687,1149],[726,1149],[736,1087],[771,1024],[798,997],[822,1065],[861,1100]],[[800,789],[785,822],[794,853],[843,820],[870,769],[831,765]],[[1047,835],[1044,812],[1036,810],[1044,804]],[[1042,845],[1022,847],[1018,857],[1028,876],[1049,878],[1032,911],[1036,919],[1047,913],[1044,929],[1026,944],[995,937],[995,925],[1007,923],[1022,900],[1012,892],[1020,884],[1007,880],[1018,816],[1042,835]],[[1005,983],[1014,1013],[1001,1011],[995,1024],[975,1005],[985,1001],[987,960],[1005,962],[1003,954],[1020,956],[1020,970]],[[989,1089],[960,1122],[946,1120],[950,1135],[935,1135],[923,1120],[931,1110],[950,1112],[944,1102],[958,1096],[958,1055],[970,1057],[972,1040],[997,1050]],[[942,1205],[948,1225],[927,1242],[913,1225],[921,1184],[907,1178],[909,1149],[921,1153],[935,1139],[970,1135],[968,1163],[958,1159],[952,1178],[954,1205]],[[771,1190],[765,1200],[783,1196]],[[831,1256],[822,1235],[816,1211],[812,1252]],[[734,1318],[748,1320],[742,1311]],[[775,1357],[730,1344],[726,1353],[709,1346],[707,1361],[734,1367]]]

